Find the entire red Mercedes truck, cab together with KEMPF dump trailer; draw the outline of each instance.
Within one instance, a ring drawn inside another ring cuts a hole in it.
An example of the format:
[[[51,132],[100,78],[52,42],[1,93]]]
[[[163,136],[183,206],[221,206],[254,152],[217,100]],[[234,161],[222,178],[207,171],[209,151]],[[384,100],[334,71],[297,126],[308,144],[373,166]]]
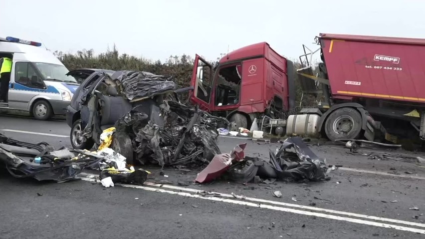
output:
[[[257,118],[287,135],[425,139],[425,39],[320,34],[316,43],[315,51],[303,45],[306,64],[296,73],[266,42],[229,52],[215,67],[197,56],[191,100],[227,117],[232,129]],[[318,107],[294,114],[296,84]]]

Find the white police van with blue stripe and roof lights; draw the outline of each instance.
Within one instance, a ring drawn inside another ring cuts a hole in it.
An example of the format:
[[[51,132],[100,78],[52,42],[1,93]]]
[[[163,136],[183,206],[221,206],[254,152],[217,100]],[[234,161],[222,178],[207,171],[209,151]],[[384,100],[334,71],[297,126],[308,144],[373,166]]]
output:
[[[1,109],[23,110],[47,120],[64,115],[78,88],[68,69],[41,43],[15,37],[0,37],[0,58],[12,59],[6,103]]]

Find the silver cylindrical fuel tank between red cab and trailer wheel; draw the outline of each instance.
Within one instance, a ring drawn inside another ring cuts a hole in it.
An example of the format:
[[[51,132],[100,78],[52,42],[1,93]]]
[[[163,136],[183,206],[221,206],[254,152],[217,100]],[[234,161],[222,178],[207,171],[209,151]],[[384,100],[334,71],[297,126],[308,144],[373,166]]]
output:
[[[320,116],[317,114],[290,115],[286,123],[287,136],[308,136],[319,135]]]

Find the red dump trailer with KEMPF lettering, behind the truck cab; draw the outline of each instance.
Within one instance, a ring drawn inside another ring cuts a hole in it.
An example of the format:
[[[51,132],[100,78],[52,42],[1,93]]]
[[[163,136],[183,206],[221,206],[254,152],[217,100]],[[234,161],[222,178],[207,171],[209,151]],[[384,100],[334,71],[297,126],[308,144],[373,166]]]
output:
[[[303,92],[323,93],[318,131],[332,140],[424,139],[425,39],[321,33],[316,42],[303,56],[320,52],[319,73],[308,60],[297,73]]]

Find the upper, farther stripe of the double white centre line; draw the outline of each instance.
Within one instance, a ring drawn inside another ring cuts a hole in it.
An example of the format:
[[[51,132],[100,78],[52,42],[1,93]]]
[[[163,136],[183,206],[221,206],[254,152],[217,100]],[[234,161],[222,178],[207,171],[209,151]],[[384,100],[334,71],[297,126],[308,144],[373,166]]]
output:
[[[80,175],[85,176],[85,177],[97,176],[97,175],[94,175],[94,174],[87,174],[87,173],[81,173]],[[165,184],[155,184],[155,183],[150,183],[150,182],[145,182],[145,185],[153,186],[153,187],[173,189],[173,190],[179,190],[179,191],[186,191],[186,192],[191,192],[191,193],[204,192],[203,190],[183,188],[183,187],[177,187],[177,186],[165,185]],[[220,195],[221,197],[234,199],[234,197],[230,194],[223,194],[223,193],[216,193],[216,192],[210,192],[210,193]],[[362,214],[356,214],[356,213],[349,213],[349,212],[343,212],[343,211],[336,211],[336,210],[329,210],[329,209],[316,208],[316,207],[310,207],[310,206],[303,206],[303,205],[298,205],[298,204],[282,203],[282,202],[276,202],[276,201],[270,201],[270,200],[264,200],[264,199],[257,199],[257,198],[248,198],[247,197],[245,200],[251,201],[251,202],[257,202],[257,203],[274,204],[274,205],[285,206],[285,207],[299,208],[299,209],[304,209],[304,210],[312,210],[312,211],[318,211],[318,212],[324,212],[324,213],[332,213],[332,214],[338,214],[338,215],[344,215],[344,216],[350,216],[350,217],[356,217],[356,218],[363,218],[363,219],[389,222],[389,223],[397,223],[397,224],[405,224],[405,225],[409,225],[409,226],[416,226],[416,227],[425,228],[425,224],[402,221],[402,220],[397,220],[397,219],[381,218],[381,217],[375,217],[375,216],[368,216],[368,215],[362,215]]]

